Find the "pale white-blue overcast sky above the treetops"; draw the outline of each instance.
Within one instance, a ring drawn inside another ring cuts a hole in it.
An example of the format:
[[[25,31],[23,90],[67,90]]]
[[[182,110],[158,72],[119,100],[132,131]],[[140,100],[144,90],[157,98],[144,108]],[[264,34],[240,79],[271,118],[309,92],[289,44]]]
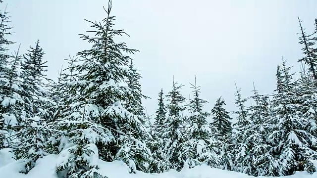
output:
[[[40,40],[48,61],[48,76],[68,55],[89,48],[78,34],[90,30],[84,19],[105,17],[107,0],[4,0],[14,35],[22,52]],[[4,4],[5,4],[4,3]],[[113,0],[117,29],[130,37],[121,39],[140,50],[132,56],[142,75],[142,89],[152,97],[144,102],[154,114],[161,88],[171,89],[173,76],[191,92],[189,82],[201,86],[201,97],[211,110],[219,96],[234,110],[235,86],[249,96],[253,82],[261,93],[275,89],[276,65],[281,56],[299,70],[299,16],[309,32],[317,17],[317,0]],[[4,5],[1,6],[4,9]],[[18,44],[11,46],[16,49]]]

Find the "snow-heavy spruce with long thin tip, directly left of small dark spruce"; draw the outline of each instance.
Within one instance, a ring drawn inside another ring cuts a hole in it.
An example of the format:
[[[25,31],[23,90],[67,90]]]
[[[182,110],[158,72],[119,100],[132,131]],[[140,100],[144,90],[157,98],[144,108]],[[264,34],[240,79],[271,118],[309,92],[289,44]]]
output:
[[[196,84],[191,84],[194,98],[190,100],[190,116],[188,119],[188,128],[186,129],[186,140],[182,145],[183,156],[189,168],[200,165],[206,162],[213,168],[218,168],[220,165],[220,156],[217,154],[217,147],[222,142],[218,142],[213,134],[215,128],[207,123],[206,118],[209,113],[203,112],[204,104],[207,100],[201,99],[200,87]]]

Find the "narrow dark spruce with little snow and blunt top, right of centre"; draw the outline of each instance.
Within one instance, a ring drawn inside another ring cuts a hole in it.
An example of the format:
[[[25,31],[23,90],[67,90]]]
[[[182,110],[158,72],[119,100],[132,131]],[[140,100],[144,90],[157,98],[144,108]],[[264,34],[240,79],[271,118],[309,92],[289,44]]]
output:
[[[223,108],[223,105],[225,105],[225,102],[221,97],[219,97],[211,109],[211,125],[216,129],[216,139],[222,141],[223,143],[219,147],[219,152],[222,157],[221,166],[224,170],[233,171],[234,156],[230,152],[233,148],[231,126],[232,118],[229,116],[229,112]]]

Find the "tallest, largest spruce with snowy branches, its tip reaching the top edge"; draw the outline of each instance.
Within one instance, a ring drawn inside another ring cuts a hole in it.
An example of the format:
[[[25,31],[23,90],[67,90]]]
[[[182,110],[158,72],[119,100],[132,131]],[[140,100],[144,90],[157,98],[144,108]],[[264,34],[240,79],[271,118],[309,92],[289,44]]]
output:
[[[100,124],[109,138],[114,138],[106,144],[97,141],[99,157],[105,161],[122,160],[131,172],[137,169],[148,172],[147,165],[152,156],[144,138],[149,134],[139,117],[124,107],[133,96],[141,95],[127,84],[132,61],[128,54],[137,50],[127,48],[125,43],[115,43],[114,38],[125,35],[125,32],[113,29],[115,19],[110,12],[111,1],[102,23],[88,21],[95,28],[91,31],[94,37],[81,35],[81,38],[92,44],[92,48],[77,53],[83,63],[74,65],[78,79],[70,89],[78,92],[73,100],[84,102],[80,96],[90,97],[87,104],[98,111],[91,120]]]

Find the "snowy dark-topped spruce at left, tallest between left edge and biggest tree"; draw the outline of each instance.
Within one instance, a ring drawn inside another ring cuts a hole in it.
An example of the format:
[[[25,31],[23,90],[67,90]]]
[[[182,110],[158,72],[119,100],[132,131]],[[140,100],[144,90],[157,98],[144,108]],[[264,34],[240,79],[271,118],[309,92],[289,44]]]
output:
[[[23,112],[19,125],[15,126],[16,136],[20,141],[12,146],[12,152],[15,159],[25,159],[25,168],[20,171],[25,174],[35,166],[39,158],[44,156],[46,141],[51,134],[46,123],[48,115],[44,109],[48,102],[46,98],[48,91],[44,84],[46,62],[42,62],[43,55],[44,51],[37,41],[36,46],[31,47],[24,55],[21,64]]]

